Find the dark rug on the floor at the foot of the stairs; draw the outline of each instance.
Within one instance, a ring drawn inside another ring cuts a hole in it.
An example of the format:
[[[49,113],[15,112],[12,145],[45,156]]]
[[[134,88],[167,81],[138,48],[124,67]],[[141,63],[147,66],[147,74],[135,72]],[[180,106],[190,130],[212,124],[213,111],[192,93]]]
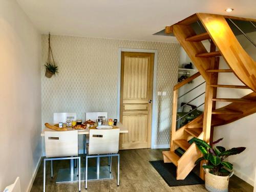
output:
[[[184,180],[176,180],[177,167],[173,163],[164,163],[163,160],[150,161],[150,163],[169,186],[204,184],[204,181],[193,172],[190,172]]]

